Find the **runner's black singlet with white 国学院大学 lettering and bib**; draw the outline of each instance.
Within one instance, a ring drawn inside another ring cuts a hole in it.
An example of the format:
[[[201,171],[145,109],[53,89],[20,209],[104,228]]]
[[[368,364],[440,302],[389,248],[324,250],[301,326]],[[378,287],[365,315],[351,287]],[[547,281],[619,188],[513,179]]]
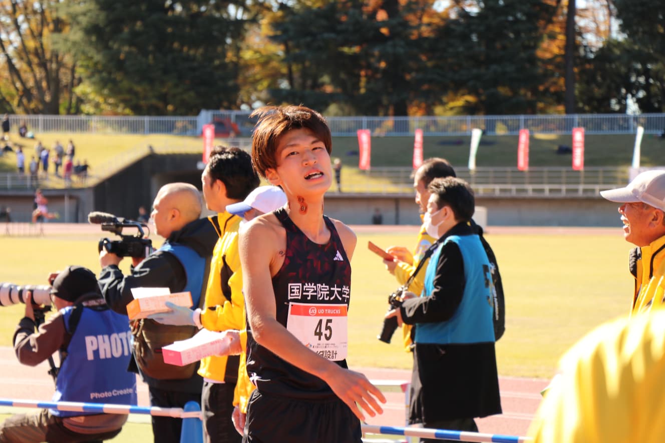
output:
[[[312,351],[346,368],[346,311],[351,265],[334,223],[325,245],[314,243],[280,208],[273,212],[287,232],[282,267],[273,277],[277,321]],[[287,363],[254,341],[247,323],[247,372],[259,392],[292,398],[332,398],[321,378]]]

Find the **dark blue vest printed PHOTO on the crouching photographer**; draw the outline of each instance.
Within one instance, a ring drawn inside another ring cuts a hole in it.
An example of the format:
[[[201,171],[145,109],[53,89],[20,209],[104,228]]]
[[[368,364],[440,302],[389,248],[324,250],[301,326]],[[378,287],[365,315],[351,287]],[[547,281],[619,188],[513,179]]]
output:
[[[66,329],[72,311],[73,306],[60,311]],[[84,307],[58,374],[53,401],[136,404],[136,374],[127,371],[131,337],[125,315]],[[59,417],[98,414],[54,409],[51,413]]]

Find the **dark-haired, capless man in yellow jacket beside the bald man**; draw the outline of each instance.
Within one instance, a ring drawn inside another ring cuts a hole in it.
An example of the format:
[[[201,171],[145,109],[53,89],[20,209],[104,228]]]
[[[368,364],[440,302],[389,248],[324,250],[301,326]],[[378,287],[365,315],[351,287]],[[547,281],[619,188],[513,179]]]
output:
[[[241,329],[245,318],[242,274],[238,255],[238,227],[241,218],[226,207],[241,203],[259,186],[259,176],[247,152],[216,146],[201,174],[205,206],[217,212],[211,218],[219,237],[215,243],[203,309],[178,309],[167,303],[171,314],[152,315],[166,325],[196,325],[210,331]],[[240,442],[231,421],[233,390],[238,376],[237,355],[205,357],[199,374],[203,377],[201,410],[205,442]]]

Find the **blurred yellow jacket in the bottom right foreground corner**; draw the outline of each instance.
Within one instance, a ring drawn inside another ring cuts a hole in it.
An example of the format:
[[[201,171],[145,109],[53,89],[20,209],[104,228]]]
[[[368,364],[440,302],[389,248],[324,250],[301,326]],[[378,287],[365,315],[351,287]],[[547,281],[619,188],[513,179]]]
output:
[[[606,323],[561,359],[529,428],[533,443],[660,443],[665,312]]]

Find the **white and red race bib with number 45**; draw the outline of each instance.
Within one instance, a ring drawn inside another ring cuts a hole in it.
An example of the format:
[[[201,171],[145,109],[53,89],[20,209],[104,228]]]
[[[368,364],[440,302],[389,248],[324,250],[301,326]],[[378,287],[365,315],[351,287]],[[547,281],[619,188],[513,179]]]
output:
[[[290,303],[287,329],[328,360],[346,359],[346,305]]]

